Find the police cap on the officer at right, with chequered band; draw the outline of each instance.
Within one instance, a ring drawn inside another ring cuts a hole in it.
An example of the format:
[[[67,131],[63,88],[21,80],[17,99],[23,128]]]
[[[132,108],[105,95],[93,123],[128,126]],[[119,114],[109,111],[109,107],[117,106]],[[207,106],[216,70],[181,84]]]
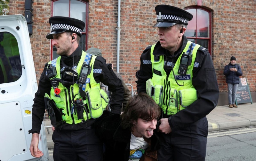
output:
[[[193,15],[178,7],[160,4],[156,8],[156,24],[153,27],[171,27],[174,24],[188,24]]]

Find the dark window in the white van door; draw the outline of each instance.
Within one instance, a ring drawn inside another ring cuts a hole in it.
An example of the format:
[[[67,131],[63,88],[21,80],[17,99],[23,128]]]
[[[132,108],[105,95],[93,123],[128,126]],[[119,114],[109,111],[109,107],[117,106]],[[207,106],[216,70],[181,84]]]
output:
[[[17,40],[10,32],[0,32],[0,84],[17,81],[21,74]]]

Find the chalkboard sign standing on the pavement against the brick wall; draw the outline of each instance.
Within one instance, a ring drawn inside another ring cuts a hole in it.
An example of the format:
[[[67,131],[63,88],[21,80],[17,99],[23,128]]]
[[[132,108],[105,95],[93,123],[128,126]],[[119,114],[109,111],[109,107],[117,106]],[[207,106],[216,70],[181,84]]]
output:
[[[240,78],[240,83],[237,86],[236,90],[236,104],[238,103],[252,103],[252,97],[247,84],[246,78]]]

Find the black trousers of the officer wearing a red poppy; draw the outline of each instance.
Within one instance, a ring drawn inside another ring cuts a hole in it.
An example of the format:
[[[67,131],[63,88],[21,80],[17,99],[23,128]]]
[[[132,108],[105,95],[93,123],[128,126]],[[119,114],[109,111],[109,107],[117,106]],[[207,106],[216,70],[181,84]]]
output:
[[[54,161],[102,161],[103,144],[94,129],[60,130],[52,134]]]

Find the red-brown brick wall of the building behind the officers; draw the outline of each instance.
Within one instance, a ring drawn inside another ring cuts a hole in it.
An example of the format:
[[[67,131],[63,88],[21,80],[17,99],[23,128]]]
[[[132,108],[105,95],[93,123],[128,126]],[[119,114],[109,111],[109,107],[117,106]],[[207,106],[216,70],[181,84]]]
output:
[[[88,47],[98,47],[108,63],[117,62],[117,0],[90,0],[88,20]],[[120,67],[119,73],[136,91],[136,71],[140,67],[140,54],[157,42],[155,6],[170,4],[180,8],[197,5],[196,0],[121,0]],[[217,73],[220,92],[227,92],[223,69],[231,56],[247,77],[250,90],[256,91],[256,2],[255,0],[202,0],[202,7],[212,11],[212,59]],[[37,79],[44,64],[50,60],[50,0],[33,3],[33,34],[30,36]],[[10,0],[10,14],[24,15],[24,0]]]

